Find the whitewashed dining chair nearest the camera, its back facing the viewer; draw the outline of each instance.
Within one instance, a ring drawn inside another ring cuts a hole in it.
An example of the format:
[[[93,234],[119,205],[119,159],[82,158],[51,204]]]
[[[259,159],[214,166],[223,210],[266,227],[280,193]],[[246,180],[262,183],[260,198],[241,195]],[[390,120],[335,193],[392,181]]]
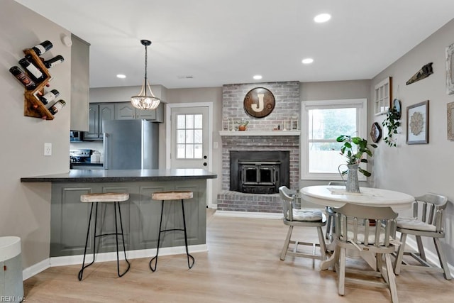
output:
[[[395,219],[397,214],[389,207],[345,204],[336,209],[336,251],[334,270],[338,273],[338,294],[345,294],[345,282],[369,287],[388,288],[393,303],[397,297],[396,278],[392,268],[394,253]],[[376,268],[370,270],[346,269],[347,250],[373,253]],[[383,263],[384,260],[384,263]],[[348,273],[348,275],[346,275]],[[350,274],[355,274],[352,277]],[[371,276],[381,277],[372,280]],[[361,279],[364,277],[364,279]]]

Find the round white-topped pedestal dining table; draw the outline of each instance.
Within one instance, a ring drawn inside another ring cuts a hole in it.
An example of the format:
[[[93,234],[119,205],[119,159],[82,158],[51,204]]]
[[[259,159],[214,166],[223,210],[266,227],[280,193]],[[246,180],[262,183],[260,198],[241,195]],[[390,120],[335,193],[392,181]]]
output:
[[[331,206],[334,211],[345,204],[354,204],[371,207],[390,207],[394,212],[399,213],[399,211],[410,209],[415,200],[413,196],[403,192],[373,187],[360,187],[360,192],[346,192],[345,186],[317,185],[303,187],[299,190],[299,193],[301,199],[314,204]],[[330,247],[330,249],[333,248]],[[336,252],[335,249],[333,250]],[[372,260],[367,260],[367,255],[365,257],[367,263],[371,264]],[[322,261],[320,264],[321,270],[330,268],[335,260],[336,256],[333,254],[328,260]]]

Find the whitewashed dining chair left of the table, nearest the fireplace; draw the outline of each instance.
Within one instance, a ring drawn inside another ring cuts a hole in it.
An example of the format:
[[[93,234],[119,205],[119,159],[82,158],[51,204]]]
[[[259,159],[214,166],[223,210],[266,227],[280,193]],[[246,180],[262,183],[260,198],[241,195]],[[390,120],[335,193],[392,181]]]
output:
[[[285,260],[286,255],[296,257],[326,260],[326,245],[323,237],[322,226],[326,225],[326,216],[321,209],[294,209],[294,200],[297,192],[285,186],[279,187],[279,195],[282,199],[282,214],[284,224],[289,226],[287,237],[282,247],[280,259]],[[292,240],[294,226],[315,227],[319,235],[319,243]],[[290,244],[293,245],[290,248]],[[299,250],[298,246],[311,246],[311,252]],[[316,253],[316,248],[320,248],[320,253]]]

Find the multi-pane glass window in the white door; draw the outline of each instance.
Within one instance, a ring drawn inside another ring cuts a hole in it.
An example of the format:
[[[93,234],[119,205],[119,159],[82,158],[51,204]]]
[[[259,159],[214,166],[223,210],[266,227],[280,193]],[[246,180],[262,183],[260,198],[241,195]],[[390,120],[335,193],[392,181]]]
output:
[[[202,158],[202,115],[177,115],[177,158]]]

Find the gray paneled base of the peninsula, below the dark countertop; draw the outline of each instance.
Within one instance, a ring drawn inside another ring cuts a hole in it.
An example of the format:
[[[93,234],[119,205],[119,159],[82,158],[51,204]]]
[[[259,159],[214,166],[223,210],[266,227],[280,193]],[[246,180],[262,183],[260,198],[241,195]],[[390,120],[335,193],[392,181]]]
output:
[[[164,190],[189,190],[192,199],[184,200],[187,239],[189,246],[206,244],[206,180],[157,181],[157,182],[94,182],[52,183],[50,214],[50,256],[82,255],[87,236],[90,204],[80,202],[80,195],[93,192],[128,192],[128,202],[122,202],[121,217],[125,233],[126,250],[144,250],[157,247],[160,222],[160,201],[151,199],[153,192]],[[100,204],[98,228],[104,233],[114,231],[114,207]],[[100,213],[102,216],[100,216]],[[165,203],[164,214],[169,224],[182,228],[181,202]],[[92,228],[91,232],[93,231]],[[90,235],[92,239],[93,235]],[[184,246],[182,233],[167,233],[162,247]],[[92,252],[89,241],[89,251]],[[116,250],[115,238],[103,239],[99,252]]]

